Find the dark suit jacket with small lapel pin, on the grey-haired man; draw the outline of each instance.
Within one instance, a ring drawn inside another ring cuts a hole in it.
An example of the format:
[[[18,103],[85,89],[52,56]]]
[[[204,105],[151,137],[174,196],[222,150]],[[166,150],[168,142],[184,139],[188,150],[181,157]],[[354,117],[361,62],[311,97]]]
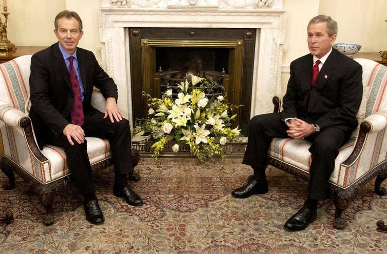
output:
[[[307,103],[312,67],[311,54],[291,63],[291,77],[283,98],[282,119],[297,117],[307,123],[317,124],[321,130],[335,126],[352,132],[358,125],[356,114],[363,94],[361,65],[332,49],[317,76]]]

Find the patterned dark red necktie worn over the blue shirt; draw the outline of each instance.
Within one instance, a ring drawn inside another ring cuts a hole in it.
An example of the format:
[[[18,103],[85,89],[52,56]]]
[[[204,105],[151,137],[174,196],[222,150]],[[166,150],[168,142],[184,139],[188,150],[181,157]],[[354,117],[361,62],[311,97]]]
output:
[[[74,104],[72,105],[72,109],[71,109],[71,123],[82,126],[83,123],[85,122],[85,116],[83,114],[81,88],[79,86],[78,79],[76,78],[74,66],[72,65],[74,56],[70,56],[69,60],[70,60],[70,66],[69,66],[70,83],[71,83],[72,92],[74,93]]]

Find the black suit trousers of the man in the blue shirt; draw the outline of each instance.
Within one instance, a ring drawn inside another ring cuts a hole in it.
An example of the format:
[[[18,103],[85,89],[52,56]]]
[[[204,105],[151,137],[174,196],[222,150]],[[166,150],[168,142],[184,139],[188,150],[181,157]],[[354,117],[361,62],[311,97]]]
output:
[[[85,113],[82,125],[85,135],[109,140],[115,175],[133,172],[129,121],[123,119],[112,123],[109,117],[103,117],[104,113],[99,111]],[[80,192],[83,195],[94,194],[87,141],[78,144],[73,140],[74,145],[71,145],[63,133],[57,138],[50,133],[48,142],[64,148],[69,170]]]

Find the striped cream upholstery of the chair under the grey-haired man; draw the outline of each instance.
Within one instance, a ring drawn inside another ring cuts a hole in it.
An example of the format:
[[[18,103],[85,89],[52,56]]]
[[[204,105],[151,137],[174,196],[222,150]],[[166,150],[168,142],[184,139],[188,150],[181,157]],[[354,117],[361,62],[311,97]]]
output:
[[[336,186],[347,188],[361,179],[363,175],[384,162],[387,157],[387,67],[371,60],[355,59],[363,67],[363,102],[358,113],[359,123],[367,121],[372,130],[366,135],[366,141],[354,162],[345,161],[354,152],[359,127],[351,139],[340,148],[335,160],[335,170],[330,182]],[[283,161],[295,168],[309,172],[311,143],[295,139],[273,139],[268,155]]]

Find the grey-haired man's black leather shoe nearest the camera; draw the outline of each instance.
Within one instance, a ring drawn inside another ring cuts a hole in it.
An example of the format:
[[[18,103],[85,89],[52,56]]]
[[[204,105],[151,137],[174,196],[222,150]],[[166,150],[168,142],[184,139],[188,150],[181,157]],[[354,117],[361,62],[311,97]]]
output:
[[[289,218],[283,226],[287,231],[299,231],[305,229],[317,218],[317,209],[304,206]]]

